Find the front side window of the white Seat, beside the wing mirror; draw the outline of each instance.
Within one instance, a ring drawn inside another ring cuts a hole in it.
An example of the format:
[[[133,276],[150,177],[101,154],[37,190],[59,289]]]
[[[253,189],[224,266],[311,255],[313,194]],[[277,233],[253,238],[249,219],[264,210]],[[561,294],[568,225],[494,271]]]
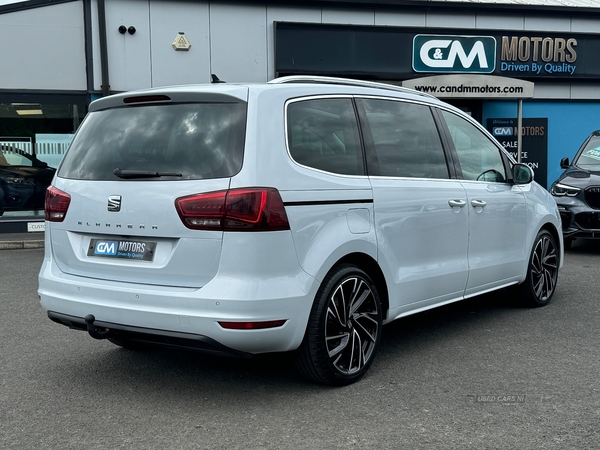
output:
[[[505,182],[506,169],[500,150],[473,124],[447,111],[446,120],[465,180]]]

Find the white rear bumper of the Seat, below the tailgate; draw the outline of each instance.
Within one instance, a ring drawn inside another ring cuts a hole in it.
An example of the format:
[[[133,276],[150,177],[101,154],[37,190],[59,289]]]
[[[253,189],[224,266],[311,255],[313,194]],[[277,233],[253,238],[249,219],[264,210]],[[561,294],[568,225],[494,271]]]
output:
[[[131,339],[246,356],[297,348],[318,286],[299,268],[270,278],[221,274],[200,289],[124,283],[65,274],[46,256],[38,293],[49,317],[71,328],[85,330],[92,314],[96,326]],[[257,330],[219,324],[276,320],[285,323]]]

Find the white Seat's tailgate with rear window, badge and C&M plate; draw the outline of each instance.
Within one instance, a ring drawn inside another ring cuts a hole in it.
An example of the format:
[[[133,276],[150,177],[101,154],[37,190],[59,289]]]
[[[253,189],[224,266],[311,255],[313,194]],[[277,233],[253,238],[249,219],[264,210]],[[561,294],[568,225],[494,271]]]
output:
[[[188,228],[175,202],[229,188],[242,165],[244,95],[142,96],[91,112],[54,182],[71,197],[49,226],[61,271],[183,287],[214,277],[223,232]]]

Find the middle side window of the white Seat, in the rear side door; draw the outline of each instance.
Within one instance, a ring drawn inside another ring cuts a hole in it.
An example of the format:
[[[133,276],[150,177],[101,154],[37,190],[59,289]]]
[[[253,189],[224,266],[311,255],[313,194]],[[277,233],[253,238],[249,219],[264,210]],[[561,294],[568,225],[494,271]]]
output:
[[[448,178],[448,166],[431,110],[414,103],[363,99],[374,144],[369,174]]]

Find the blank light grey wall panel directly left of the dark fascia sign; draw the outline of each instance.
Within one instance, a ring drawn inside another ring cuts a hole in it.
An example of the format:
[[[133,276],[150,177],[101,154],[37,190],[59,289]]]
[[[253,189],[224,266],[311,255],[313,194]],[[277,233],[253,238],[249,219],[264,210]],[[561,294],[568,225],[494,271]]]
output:
[[[266,6],[210,4],[211,72],[225,81],[267,78]]]

